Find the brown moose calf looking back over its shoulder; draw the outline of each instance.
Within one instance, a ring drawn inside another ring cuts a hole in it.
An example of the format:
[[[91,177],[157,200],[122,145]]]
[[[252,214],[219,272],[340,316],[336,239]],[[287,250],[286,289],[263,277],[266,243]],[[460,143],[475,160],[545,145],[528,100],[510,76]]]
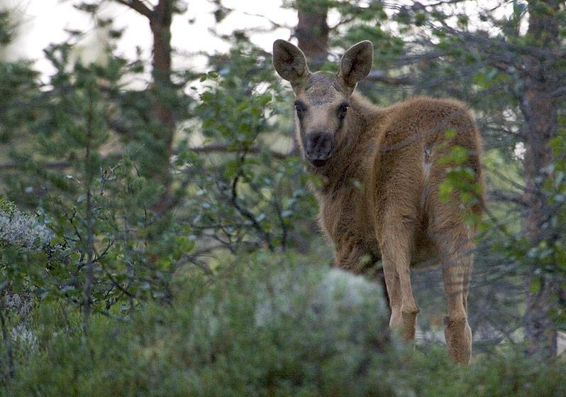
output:
[[[360,272],[362,257],[382,259],[389,325],[408,340],[414,339],[418,312],[410,267],[442,264],[448,351],[468,362],[467,291],[476,231],[464,221],[457,193],[440,200],[438,185],[448,167],[439,159],[457,145],[467,149],[464,165],[482,186],[475,122],[449,99],[418,97],[382,108],[353,94],[372,58],[372,43],[362,41],[346,51],[336,75],[313,73],[299,48],[285,40],[273,44],[274,67],[296,95],[301,151],[309,171],[323,180],[315,192],[337,266]],[[480,202],[472,213],[481,214]]]

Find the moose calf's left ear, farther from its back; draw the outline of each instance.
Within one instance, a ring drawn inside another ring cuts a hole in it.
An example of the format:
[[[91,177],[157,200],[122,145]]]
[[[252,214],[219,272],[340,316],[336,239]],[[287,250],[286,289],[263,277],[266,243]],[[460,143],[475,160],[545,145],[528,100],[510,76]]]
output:
[[[295,84],[310,73],[304,53],[289,41],[280,39],[273,43],[273,66],[279,76]]]

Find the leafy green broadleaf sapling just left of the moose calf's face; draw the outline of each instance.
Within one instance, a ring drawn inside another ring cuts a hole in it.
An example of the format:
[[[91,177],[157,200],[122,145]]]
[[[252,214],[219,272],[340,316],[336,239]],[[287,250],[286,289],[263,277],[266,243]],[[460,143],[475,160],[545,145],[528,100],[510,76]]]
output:
[[[285,249],[293,243],[296,222],[315,207],[299,158],[283,160],[277,141],[272,143],[282,89],[270,56],[242,40],[230,53],[211,58],[211,67],[215,71],[200,79],[204,87],[195,113],[206,145],[221,150],[196,156],[189,142],[179,147],[179,165],[190,164],[194,184],[188,222],[196,236],[203,231],[233,251]],[[291,143],[290,136],[279,139]]]

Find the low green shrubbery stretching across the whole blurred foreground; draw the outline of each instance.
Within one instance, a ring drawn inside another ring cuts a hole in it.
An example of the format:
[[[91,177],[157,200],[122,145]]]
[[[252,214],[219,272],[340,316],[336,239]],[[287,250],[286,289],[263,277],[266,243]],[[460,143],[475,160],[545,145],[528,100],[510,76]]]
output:
[[[499,348],[465,367],[443,347],[404,350],[378,285],[293,262],[240,258],[218,278],[191,276],[171,305],[155,301],[128,322],[94,315],[86,337],[79,312],[42,303],[33,335],[13,339],[16,375],[0,395],[566,395],[564,362]]]

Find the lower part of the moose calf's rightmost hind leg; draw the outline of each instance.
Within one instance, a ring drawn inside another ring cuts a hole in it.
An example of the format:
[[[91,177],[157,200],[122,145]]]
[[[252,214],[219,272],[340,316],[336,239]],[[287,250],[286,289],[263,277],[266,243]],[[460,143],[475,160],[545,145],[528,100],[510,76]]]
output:
[[[472,356],[472,330],[467,322],[467,293],[474,245],[467,233],[451,233],[445,236],[443,246],[443,281],[448,309],[444,335],[450,357],[468,363]]]

